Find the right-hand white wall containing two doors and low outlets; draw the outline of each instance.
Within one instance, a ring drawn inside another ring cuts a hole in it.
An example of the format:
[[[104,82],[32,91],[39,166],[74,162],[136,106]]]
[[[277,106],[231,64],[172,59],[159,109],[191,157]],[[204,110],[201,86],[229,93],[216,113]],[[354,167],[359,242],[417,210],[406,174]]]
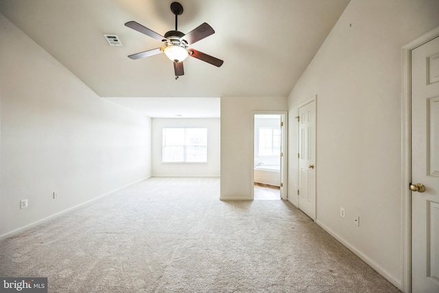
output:
[[[438,12],[437,0],[352,0],[288,98],[294,141],[298,104],[318,96],[318,224],[400,288],[401,47],[439,25]],[[290,143],[290,195],[296,153]]]

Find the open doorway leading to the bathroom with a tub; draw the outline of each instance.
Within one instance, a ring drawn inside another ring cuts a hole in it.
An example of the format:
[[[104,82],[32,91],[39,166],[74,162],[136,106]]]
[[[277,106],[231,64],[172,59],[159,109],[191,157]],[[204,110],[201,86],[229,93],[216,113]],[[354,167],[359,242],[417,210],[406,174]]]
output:
[[[252,198],[279,200],[285,195],[286,112],[255,112]]]

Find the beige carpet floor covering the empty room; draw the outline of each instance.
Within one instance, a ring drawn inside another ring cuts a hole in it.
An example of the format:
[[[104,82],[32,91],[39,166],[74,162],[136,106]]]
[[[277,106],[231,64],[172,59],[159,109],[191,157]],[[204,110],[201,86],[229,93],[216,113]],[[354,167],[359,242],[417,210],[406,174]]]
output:
[[[62,200],[62,198],[58,198]],[[150,178],[0,242],[1,277],[49,292],[399,292],[284,200]]]

